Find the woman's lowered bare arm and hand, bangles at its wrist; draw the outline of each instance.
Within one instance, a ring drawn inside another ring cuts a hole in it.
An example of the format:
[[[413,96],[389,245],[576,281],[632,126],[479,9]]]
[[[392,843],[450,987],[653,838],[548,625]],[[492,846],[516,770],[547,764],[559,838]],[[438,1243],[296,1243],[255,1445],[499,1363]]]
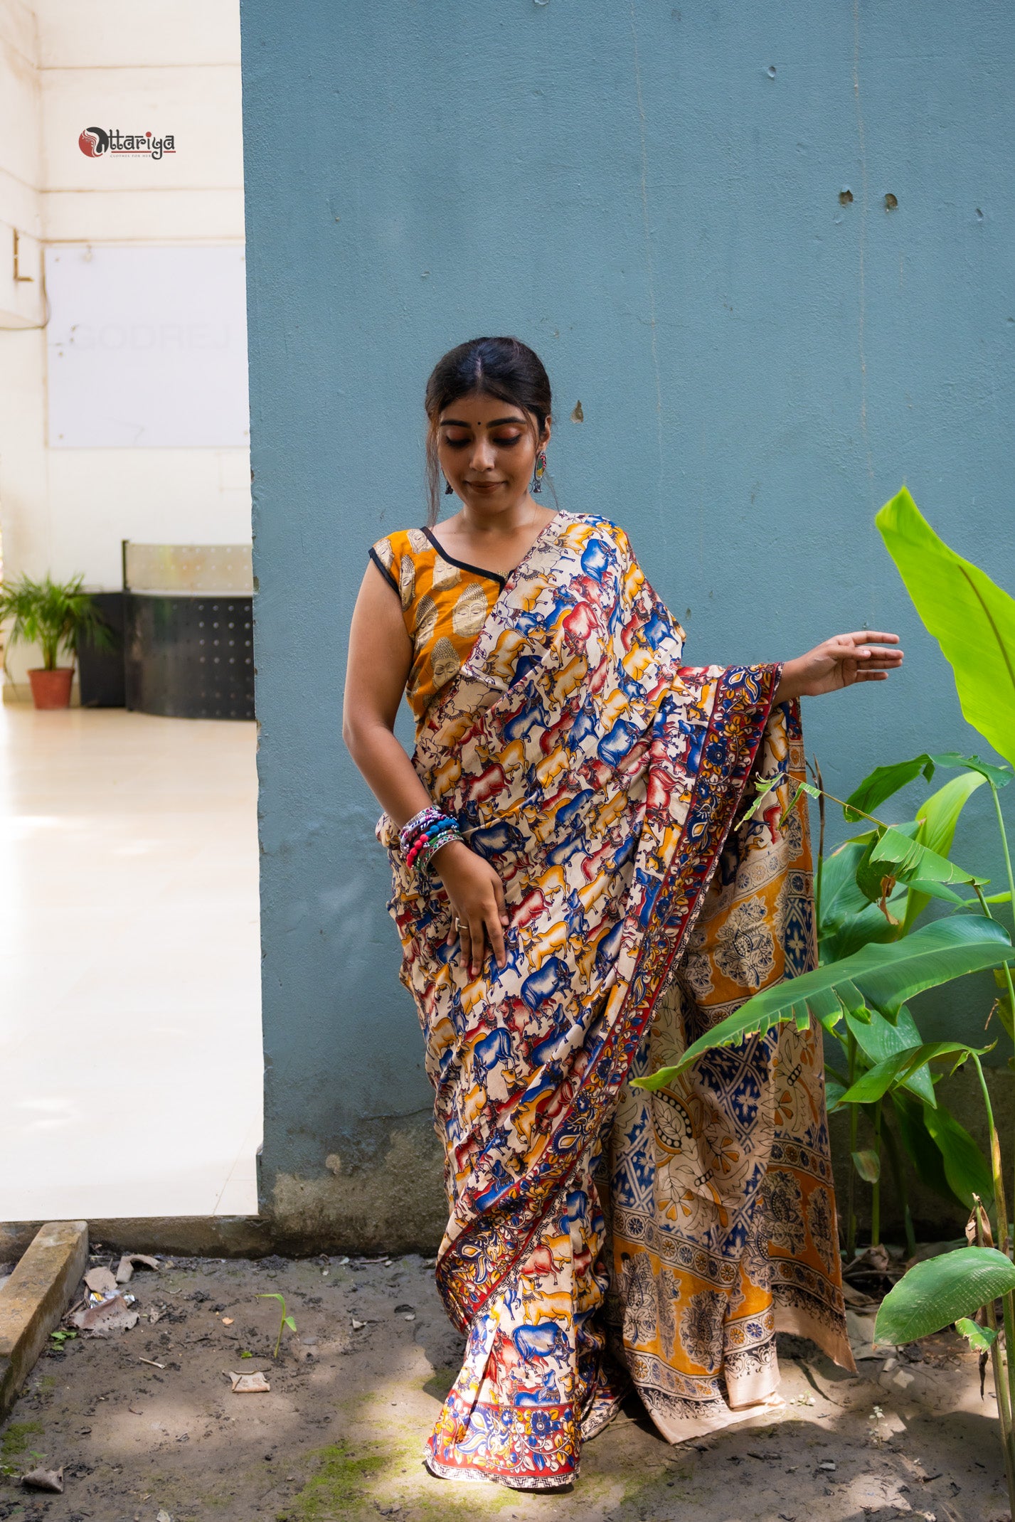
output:
[[[394,718],[411,665],[412,642],[397,594],[371,560],[348,633],[342,738],[396,829],[432,802],[394,737]],[[461,924],[461,950],[470,974],[479,971],[487,942],[498,966],[504,966],[508,915],[498,874],[460,840],[441,846],[432,866]],[[447,939],[455,941],[455,931]]]

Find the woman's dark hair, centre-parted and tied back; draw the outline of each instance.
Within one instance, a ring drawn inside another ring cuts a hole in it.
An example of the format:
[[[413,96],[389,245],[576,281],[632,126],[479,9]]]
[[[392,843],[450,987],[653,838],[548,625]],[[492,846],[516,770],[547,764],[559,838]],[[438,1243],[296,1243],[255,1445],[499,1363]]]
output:
[[[470,338],[437,361],[426,382],[426,487],[429,507],[426,521],[434,525],[440,513],[441,469],[437,455],[438,419],[446,406],[461,396],[484,391],[528,412],[533,441],[539,441],[551,414],[549,376],[539,355],[519,338]],[[533,417],[536,425],[533,425]],[[546,478],[549,479],[549,478]],[[557,493],[549,482],[554,502]]]

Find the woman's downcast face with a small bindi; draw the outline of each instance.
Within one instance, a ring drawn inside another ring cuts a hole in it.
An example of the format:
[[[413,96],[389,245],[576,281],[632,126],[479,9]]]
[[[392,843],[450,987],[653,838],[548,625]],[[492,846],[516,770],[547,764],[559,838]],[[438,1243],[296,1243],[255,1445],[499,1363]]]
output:
[[[549,438],[548,422],[536,444],[534,423],[520,406],[482,391],[441,411],[437,454],[452,490],[467,507],[499,513],[525,501],[536,451]]]

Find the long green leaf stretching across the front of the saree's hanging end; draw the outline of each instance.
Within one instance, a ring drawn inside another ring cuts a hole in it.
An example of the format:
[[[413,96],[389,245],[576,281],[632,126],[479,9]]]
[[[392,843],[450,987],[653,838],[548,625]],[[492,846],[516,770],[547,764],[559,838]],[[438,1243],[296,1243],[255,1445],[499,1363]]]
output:
[[[1007,933],[994,919],[980,915],[939,919],[915,930],[904,941],[863,947],[842,962],[762,989],[698,1036],[677,1064],[648,1078],[632,1079],[632,1084],[636,1088],[662,1088],[705,1052],[740,1046],[747,1036],[764,1035],[784,1020],[794,1020],[803,1029],[811,1015],[817,1020],[828,1018],[829,1000],[840,995],[849,1009],[866,1001],[892,1017],[907,998],[922,989],[950,983],[951,979],[980,968],[1000,966],[1010,951]],[[857,994],[861,1000],[857,1000]]]

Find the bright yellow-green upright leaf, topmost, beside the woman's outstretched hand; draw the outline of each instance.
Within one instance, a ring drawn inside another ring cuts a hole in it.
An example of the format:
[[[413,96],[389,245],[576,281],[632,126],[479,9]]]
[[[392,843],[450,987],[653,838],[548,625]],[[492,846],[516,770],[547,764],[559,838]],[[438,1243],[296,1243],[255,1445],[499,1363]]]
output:
[[[954,671],[962,712],[1015,763],[1015,598],[937,537],[905,487],[875,522]]]

